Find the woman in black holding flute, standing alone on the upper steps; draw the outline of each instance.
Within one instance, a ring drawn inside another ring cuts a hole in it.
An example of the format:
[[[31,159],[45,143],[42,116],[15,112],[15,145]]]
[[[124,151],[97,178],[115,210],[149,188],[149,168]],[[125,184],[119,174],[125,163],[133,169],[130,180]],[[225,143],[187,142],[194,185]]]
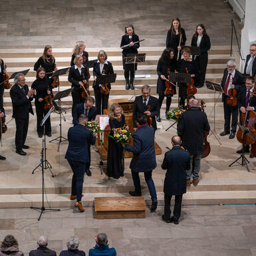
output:
[[[122,41],[120,47],[128,45],[127,47],[122,48],[122,66],[124,69],[124,78],[126,80],[126,90],[134,90],[134,75],[137,70],[137,64],[125,64],[126,56],[130,53],[138,53],[138,48],[140,47],[140,42],[138,35],[134,34],[134,26],[132,24],[126,25],[124,29],[125,35],[122,36]],[[134,43],[138,42],[138,43]],[[130,74],[130,82],[129,82]]]

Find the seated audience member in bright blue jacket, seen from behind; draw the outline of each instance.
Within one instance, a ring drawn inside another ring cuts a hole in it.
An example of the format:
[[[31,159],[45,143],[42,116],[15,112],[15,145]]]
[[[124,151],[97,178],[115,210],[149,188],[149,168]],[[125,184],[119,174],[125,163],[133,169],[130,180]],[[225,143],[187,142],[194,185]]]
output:
[[[116,249],[108,247],[108,237],[105,233],[94,235],[96,245],[89,250],[89,256],[116,256]]]

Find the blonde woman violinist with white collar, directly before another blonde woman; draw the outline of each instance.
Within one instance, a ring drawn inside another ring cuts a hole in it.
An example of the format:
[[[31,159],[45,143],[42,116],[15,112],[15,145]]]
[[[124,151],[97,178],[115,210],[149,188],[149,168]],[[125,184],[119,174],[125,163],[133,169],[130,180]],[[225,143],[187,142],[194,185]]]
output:
[[[72,116],[74,117],[74,107],[76,104],[84,103],[82,98],[82,87],[87,82],[87,70],[82,64],[83,59],[81,55],[74,57],[74,65],[69,68],[68,81],[71,82],[72,87]]]

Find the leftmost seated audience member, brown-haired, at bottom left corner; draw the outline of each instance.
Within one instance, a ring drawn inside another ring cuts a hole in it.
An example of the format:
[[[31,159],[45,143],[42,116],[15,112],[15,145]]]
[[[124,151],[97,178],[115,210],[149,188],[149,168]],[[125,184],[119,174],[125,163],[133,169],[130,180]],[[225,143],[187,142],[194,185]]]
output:
[[[7,235],[1,244],[0,256],[24,256],[22,251],[19,251],[19,245],[13,235]]]

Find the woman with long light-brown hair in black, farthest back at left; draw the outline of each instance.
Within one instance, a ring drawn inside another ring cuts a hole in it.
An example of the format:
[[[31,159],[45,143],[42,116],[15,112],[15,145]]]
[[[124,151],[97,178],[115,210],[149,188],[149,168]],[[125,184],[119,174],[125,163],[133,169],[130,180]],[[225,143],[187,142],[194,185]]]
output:
[[[47,77],[49,78],[53,71],[57,70],[57,66],[55,64],[55,57],[53,56],[53,49],[51,45],[46,45],[43,55],[37,60],[34,65],[34,70],[37,71],[37,68],[42,66],[45,68],[45,72],[47,73]]]

